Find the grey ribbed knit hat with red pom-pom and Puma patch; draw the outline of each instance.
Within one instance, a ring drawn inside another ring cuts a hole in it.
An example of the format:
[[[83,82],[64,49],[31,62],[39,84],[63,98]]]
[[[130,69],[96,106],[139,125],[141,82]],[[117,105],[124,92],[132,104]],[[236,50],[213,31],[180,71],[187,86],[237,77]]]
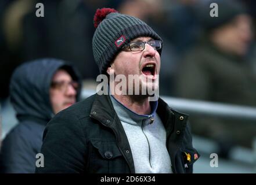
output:
[[[96,31],[92,39],[94,59],[100,73],[105,73],[122,46],[140,36],[162,40],[149,25],[139,18],[120,14],[115,9],[96,10],[94,16]],[[161,54],[161,50],[158,50]]]

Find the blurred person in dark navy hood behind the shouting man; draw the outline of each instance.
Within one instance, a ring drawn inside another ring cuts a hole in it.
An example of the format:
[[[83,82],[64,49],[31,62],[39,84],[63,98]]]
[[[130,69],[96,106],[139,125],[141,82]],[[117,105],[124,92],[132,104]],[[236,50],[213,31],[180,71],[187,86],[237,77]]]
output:
[[[45,125],[78,101],[78,73],[62,60],[44,58],[19,66],[10,82],[10,101],[19,124],[3,140],[2,173],[34,173]]]

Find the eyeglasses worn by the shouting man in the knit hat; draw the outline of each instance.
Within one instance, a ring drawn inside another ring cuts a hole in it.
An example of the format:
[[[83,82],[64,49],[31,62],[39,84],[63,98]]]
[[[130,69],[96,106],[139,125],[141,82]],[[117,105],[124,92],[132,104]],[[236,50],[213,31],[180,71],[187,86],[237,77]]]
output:
[[[162,48],[161,40],[150,40],[148,42],[143,42],[143,41],[130,42],[127,45],[124,45],[122,48],[129,49],[131,51],[142,51],[145,49],[146,44],[153,47],[153,49],[155,50],[160,50]]]

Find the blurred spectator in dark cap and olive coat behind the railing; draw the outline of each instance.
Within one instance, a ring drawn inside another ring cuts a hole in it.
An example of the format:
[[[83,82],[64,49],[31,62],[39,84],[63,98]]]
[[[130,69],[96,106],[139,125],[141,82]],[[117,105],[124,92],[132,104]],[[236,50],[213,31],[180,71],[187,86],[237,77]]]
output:
[[[218,3],[218,17],[210,17],[208,1],[201,9],[204,38],[183,59],[177,74],[177,95],[183,98],[256,106],[256,75],[246,61],[253,39],[251,17],[233,1]],[[228,150],[232,144],[251,147],[255,123],[194,117],[195,134],[210,136]],[[223,144],[223,145],[222,145]],[[228,151],[223,156],[228,155]]]

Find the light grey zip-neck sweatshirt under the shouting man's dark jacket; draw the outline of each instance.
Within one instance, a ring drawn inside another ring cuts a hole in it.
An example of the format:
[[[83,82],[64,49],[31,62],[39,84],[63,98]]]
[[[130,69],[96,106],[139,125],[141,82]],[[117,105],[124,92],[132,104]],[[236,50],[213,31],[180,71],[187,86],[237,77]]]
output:
[[[139,115],[126,108],[112,95],[110,98],[127,135],[135,173],[172,173],[166,148],[166,131],[156,113],[157,101],[150,102],[150,115]]]

